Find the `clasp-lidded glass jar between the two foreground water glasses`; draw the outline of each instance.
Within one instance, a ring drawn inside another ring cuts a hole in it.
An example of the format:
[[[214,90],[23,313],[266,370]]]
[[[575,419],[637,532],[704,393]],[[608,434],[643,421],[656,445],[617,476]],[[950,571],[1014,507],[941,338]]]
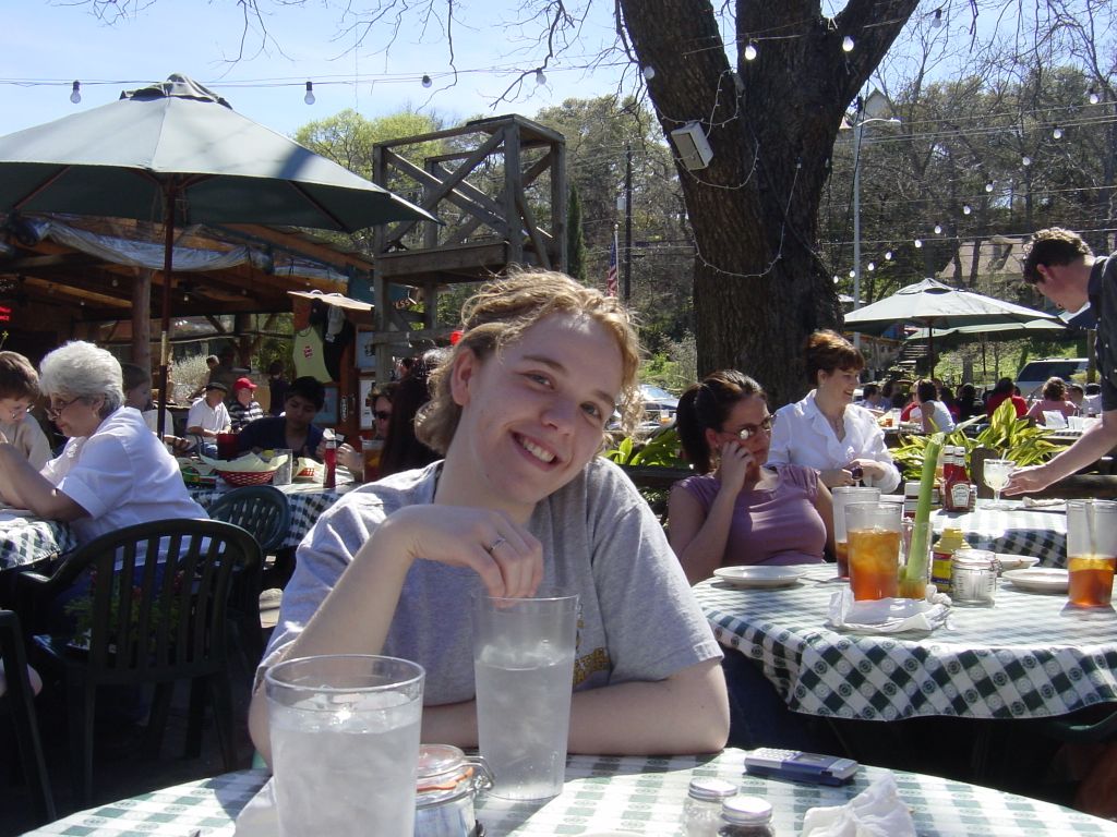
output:
[[[472,837],[481,834],[474,797],[493,787],[493,775],[479,756],[452,744],[419,748],[416,837]]]

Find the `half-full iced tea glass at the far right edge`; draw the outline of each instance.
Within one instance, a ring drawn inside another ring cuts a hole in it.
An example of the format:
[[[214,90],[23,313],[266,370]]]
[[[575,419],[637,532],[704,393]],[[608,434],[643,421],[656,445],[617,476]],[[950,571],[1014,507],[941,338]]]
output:
[[[1117,564],[1117,502],[1067,501],[1067,569],[1070,604],[1109,607]]]

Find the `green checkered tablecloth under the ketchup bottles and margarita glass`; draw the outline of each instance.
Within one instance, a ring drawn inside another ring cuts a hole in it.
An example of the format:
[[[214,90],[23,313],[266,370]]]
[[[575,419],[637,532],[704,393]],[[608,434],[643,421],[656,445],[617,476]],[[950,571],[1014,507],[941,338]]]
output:
[[[1032,556],[1043,567],[1067,566],[1066,506],[1041,511],[1027,509],[1019,500],[1002,500],[1014,508],[999,510],[987,508],[990,502],[978,500],[976,510],[968,512],[936,511],[932,525],[939,533],[947,526],[962,529],[974,549]]]

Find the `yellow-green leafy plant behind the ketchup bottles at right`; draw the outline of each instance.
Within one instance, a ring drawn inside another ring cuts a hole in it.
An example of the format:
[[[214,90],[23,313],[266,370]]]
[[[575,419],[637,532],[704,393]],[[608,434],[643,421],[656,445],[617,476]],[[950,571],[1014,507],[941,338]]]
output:
[[[985,416],[975,416],[946,434],[943,444],[962,448],[966,453],[966,468],[971,466],[970,454],[976,448],[991,448],[999,459],[1011,459],[1018,465],[1035,465],[1046,462],[1059,445],[1047,440],[1051,431],[1039,425],[1032,426],[1023,419],[1016,417],[1016,408],[1011,401],[1004,401],[990,417],[989,426],[976,436],[968,436],[965,429],[984,421]],[[904,471],[904,479],[919,479],[923,468],[924,450],[927,436],[904,436],[903,444],[892,450],[892,459]]]

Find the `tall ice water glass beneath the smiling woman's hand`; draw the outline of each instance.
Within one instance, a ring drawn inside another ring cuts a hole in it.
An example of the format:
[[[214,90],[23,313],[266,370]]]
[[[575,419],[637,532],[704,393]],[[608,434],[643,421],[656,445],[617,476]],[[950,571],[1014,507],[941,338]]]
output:
[[[477,734],[494,796],[562,792],[576,634],[577,596],[475,597]]]

